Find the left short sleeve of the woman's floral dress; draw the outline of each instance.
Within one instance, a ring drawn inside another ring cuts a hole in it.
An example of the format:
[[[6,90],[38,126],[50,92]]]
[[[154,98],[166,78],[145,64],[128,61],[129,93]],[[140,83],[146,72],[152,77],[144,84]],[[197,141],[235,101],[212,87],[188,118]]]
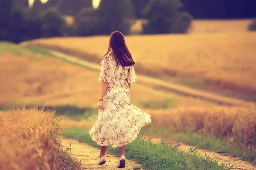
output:
[[[102,60],[99,82],[115,82],[115,73],[113,63],[110,57]]]

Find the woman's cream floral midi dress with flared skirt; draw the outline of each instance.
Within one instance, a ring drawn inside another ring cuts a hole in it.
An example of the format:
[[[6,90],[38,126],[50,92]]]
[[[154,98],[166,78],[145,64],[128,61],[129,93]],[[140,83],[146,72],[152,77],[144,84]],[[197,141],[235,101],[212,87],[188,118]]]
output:
[[[127,82],[127,81],[128,82]],[[103,110],[98,111],[89,134],[100,146],[121,147],[133,142],[150,115],[132,105],[128,83],[137,81],[134,66],[116,66],[113,56],[102,61],[99,82],[108,82]]]

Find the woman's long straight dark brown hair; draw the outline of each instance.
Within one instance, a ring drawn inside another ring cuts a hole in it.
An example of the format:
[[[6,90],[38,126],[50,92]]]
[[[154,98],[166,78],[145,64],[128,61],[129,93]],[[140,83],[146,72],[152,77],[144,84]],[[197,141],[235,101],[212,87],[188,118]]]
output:
[[[132,59],[131,53],[126,46],[125,37],[119,31],[115,31],[111,34],[109,39],[108,51],[103,56],[103,58],[105,58],[110,53],[113,54],[117,66],[131,66],[135,64],[134,60]]]

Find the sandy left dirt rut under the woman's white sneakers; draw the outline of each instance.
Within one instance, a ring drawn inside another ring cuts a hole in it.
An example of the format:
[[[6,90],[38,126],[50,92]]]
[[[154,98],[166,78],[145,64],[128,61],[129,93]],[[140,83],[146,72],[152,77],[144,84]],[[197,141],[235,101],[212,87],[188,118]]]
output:
[[[71,143],[71,154],[77,160],[81,160],[82,167],[88,170],[119,170],[120,168],[116,168],[117,165],[117,157],[115,154],[107,153],[106,159],[107,162],[105,165],[97,165],[99,161],[99,149],[90,146],[89,144],[79,142],[75,139],[67,139],[62,138],[61,144],[64,148],[70,148]],[[86,155],[86,156],[78,156],[78,155]],[[88,157],[87,157],[88,156]],[[134,167],[141,167],[140,164],[136,164],[134,161],[126,159],[125,168],[121,168],[122,170],[133,170]],[[142,170],[142,169],[141,169]]]

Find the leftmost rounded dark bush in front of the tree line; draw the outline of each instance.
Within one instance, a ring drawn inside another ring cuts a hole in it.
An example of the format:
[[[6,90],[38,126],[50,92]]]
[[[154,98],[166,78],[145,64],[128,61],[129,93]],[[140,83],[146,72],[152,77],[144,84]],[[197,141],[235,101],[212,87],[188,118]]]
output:
[[[56,8],[50,8],[38,18],[41,23],[41,37],[59,37],[63,35],[65,20]]]

